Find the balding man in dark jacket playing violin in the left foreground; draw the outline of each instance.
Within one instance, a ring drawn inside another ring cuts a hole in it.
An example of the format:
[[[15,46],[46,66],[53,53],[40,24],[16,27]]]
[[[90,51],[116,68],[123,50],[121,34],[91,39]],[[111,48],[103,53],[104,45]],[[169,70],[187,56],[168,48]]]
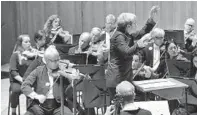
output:
[[[54,47],[49,47],[44,53],[46,65],[37,67],[22,83],[22,92],[32,100],[28,102],[28,112],[34,115],[60,115],[60,79],[63,77],[64,90],[70,84],[69,80],[79,77],[79,72],[66,73],[59,65],[60,56]],[[34,88],[34,89],[32,89]],[[64,91],[64,95],[68,94]],[[72,115],[64,107],[65,115]]]

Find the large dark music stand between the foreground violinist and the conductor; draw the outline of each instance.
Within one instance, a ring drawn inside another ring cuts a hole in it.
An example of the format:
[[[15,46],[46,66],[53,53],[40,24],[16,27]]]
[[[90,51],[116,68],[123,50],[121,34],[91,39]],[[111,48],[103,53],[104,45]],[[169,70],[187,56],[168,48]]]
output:
[[[80,65],[76,67],[83,74],[88,74],[91,79],[83,80],[83,102],[85,108],[103,107],[110,104],[107,94],[105,70],[99,65]]]

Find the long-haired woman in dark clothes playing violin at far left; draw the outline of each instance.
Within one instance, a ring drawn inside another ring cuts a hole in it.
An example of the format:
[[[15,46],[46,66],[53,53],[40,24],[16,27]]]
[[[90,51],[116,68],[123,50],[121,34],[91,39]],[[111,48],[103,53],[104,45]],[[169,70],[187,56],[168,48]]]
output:
[[[20,35],[17,38],[15,49],[10,58],[10,87],[11,87],[11,108],[12,115],[16,115],[16,107],[19,104],[21,94],[21,83],[23,75],[32,62],[32,58],[27,58],[23,52],[30,50],[31,43],[29,35]]]

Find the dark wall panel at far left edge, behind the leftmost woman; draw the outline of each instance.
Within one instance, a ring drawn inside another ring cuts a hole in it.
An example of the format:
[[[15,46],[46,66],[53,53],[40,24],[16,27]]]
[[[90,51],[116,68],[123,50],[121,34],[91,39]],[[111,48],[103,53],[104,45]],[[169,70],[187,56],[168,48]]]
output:
[[[15,2],[1,2],[1,64],[9,63],[16,41]]]

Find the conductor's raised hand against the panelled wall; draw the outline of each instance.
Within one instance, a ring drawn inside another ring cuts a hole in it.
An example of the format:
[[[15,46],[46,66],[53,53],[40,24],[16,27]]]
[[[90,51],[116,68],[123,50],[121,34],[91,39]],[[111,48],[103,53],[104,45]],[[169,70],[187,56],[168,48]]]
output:
[[[158,21],[158,12],[160,8],[159,6],[153,6],[150,11],[150,18],[154,20],[154,22]]]

